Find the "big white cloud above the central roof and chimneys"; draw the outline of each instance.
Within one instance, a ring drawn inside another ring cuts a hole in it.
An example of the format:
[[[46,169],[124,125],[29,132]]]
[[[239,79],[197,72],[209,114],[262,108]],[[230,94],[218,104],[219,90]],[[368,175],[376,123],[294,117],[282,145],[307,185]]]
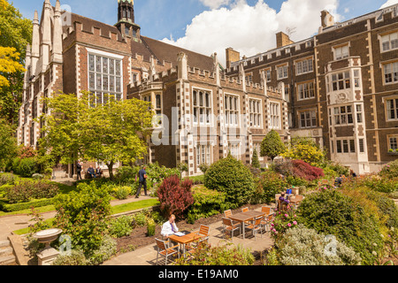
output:
[[[205,2],[205,0],[201,0]],[[217,1],[218,3],[220,1]],[[205,55],[217,52],[221,64],[226,64],[226,48],[232,47],[241,56],[255,56],[276,47],[275,34],[295,27],[293,41],[301,41],[318,33],[320,12],[330,11],[338,21],[338,0],[287,0],[279,12],[264,0],[250,6],[246,0],[235,0],[230,6],[203,11],[192,19],[186,34],[177,40],[164,42]]]

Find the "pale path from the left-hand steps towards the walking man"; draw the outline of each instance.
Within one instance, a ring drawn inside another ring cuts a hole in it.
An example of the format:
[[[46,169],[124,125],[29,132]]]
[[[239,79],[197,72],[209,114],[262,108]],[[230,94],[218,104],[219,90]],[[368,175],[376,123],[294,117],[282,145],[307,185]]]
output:
[[[127,200],[115,200],[111,201],[111,206],[116,206],[119,204],[125,203],[135,203],[143,200],[153,199],[153,197],[149,196],[141,196],[139,199],[129,198]],[[55,211],[42,213],[42,217],[44,220],[49,218],[54,218],[56,216]],[[0,217],[0,241],[7,240],[7,237],[11,234],[12,231],[27,228],[30,224],[30,220],[32,216],[29,215],[11,215]]]

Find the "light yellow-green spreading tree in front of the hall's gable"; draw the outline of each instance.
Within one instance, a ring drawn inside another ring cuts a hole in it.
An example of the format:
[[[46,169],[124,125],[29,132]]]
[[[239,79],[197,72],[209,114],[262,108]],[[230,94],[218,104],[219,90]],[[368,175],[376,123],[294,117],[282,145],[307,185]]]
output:
[[[95,104],[95,97],[83,92],[60,94],[45,100],[52,115],[43,115],[46,126],[40,146],[61,164],[77,160],[103,162],[113,179],[118,162],[134,163],[147,154],[145,137],[150,134],[153,112],[138,99]]]

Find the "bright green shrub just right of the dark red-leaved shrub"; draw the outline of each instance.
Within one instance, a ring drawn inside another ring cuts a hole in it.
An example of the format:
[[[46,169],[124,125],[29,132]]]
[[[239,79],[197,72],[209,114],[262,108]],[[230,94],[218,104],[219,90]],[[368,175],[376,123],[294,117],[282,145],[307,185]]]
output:
[[[200,218],[209,218],[225,210],[226,194],[204,186],[192,187],[194,204],[188,209],[188,222],[194,224]]]

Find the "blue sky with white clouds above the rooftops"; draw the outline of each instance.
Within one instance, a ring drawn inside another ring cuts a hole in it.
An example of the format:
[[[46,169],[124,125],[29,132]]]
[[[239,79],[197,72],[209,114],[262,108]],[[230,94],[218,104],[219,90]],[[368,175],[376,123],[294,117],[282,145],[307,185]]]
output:
[[[42,12],[43,0],[9,0],[27,19]],[[56,0],[50,0],[52,5]],[[117,22],[117,0],[60,0],[66,10],[109,25]],[[342,22],[377,11],[398,0],[135,0],[135,23],[142,35],[210,56],[225,50],[255,56],[275,48],[275,34],[291,31],[302,41],[318,33],[320,11]]]

